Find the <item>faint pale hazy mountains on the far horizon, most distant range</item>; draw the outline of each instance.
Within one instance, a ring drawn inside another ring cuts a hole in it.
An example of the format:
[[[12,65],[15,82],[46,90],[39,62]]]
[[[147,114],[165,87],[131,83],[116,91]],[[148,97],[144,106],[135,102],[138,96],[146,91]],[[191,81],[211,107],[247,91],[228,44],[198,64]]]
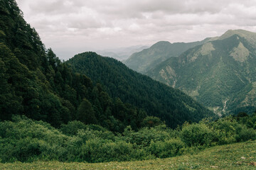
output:
[[[119,61],[124,61],[124,60],[127,60],[127,58],[129,56],[131,56],[134,52],[142,51],[145,48],[148,48],[148,46],[134,45],[131,47],[122,47],[122,48],[109,49],[109,50],[99,50],[99,51],[97,51],[97,54],[102,55],[102,56],[112,57]]]

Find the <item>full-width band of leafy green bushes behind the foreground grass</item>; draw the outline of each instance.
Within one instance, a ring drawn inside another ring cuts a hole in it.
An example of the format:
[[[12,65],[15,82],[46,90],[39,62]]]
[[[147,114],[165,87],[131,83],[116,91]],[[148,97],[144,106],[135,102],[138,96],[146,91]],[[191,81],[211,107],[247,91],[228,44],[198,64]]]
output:
[[[253,116],[246,118],[253,122]],[[127,127],[123,134],[73,121],[62,126],[68,134],[64,135],[48,123],[15,116],[12,121],[0,122],[0,161],[111,162],[174,157],[213,145],[256,140],[248,121],[241,124],[228,117],[186,123],[177,130],[159,125],[138,132]]]

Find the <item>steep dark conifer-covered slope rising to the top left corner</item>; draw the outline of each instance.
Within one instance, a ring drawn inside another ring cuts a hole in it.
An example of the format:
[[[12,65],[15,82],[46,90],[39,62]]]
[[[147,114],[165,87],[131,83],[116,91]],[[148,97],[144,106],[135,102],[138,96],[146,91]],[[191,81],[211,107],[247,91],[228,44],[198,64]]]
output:
[[[142,109],[110,98],[46,50],[16,1],[0,1],[0,13],[0,120],[18,114],[55,127],[78,119],[114,131],[141,126]]]

